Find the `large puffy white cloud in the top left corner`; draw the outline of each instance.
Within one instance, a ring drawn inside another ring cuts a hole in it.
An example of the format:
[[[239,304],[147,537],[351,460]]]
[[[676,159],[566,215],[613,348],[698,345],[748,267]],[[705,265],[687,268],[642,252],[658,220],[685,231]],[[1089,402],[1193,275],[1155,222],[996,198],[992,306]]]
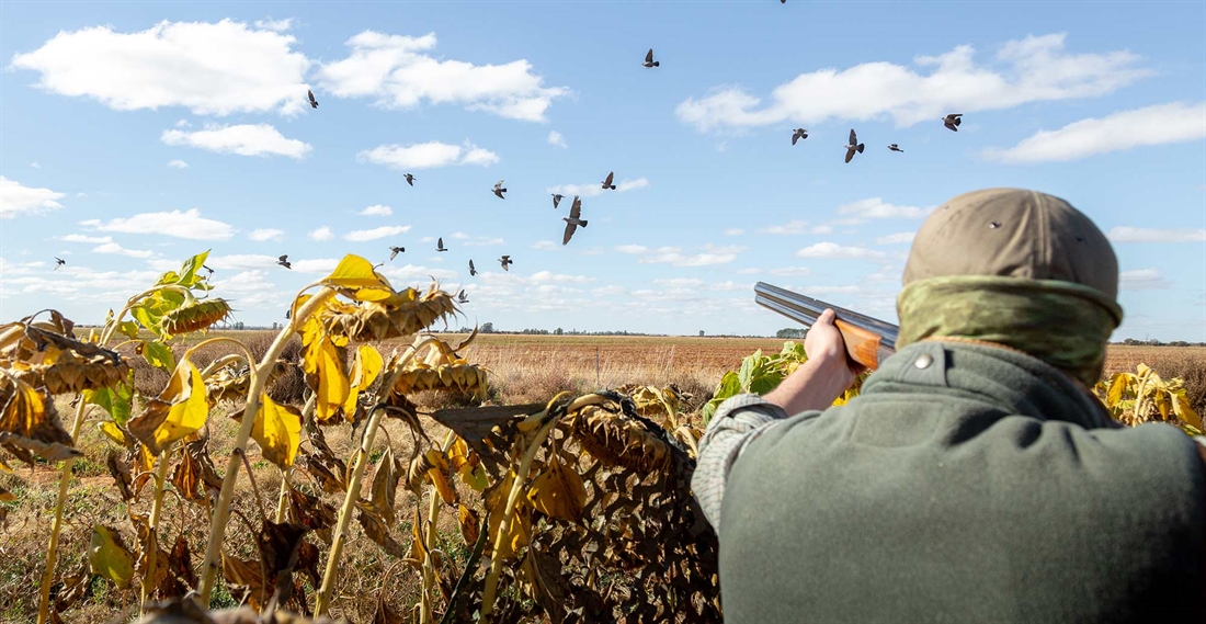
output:
[[[10,66],[40,72],[45,91],[94,98],[121,111],[297,113],[305,106],[310,60],[292,49],[294,42],[230,19],[164,21],[137,33],[90,27],[59,31],[42,47],[16,54]]]

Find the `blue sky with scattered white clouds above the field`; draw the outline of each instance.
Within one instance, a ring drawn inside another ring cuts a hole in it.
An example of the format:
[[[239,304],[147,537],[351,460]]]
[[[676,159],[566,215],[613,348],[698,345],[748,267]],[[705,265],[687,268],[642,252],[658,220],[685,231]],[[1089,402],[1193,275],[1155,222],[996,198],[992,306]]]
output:
[[[925,214],[1015,186],[1113,240],[1116,339],[1206,340],[1201,2],[6,1],[0,59],[4,320],[98,322],[211,249],[270,323],[397,244],[382,272],[463,286],[466,323],[790,326],[757,280],[895,321]]]

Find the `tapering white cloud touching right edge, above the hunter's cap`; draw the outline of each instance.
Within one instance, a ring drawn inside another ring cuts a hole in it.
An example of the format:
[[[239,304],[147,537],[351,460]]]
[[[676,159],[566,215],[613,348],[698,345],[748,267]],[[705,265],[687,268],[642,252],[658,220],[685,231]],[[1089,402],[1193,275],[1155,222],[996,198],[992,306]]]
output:
[[[1202,138],[1206,138],[1206,103],[1160,104],[1081,119],[1058,130],[1040,130],[1008,150],[985,150],[984,157],[1006,163],[1064,162]]]

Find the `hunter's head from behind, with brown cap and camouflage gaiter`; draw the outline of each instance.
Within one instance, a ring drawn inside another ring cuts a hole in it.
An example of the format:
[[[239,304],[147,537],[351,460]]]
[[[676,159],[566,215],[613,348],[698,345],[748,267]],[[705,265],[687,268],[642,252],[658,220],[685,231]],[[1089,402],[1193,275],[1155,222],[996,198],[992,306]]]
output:
[[[935,210],[913,240],[897,346],[943,337],[999,343],[1093,385],[1122,322],[1117,294],[1110,241],[1067,202],[974,191]]]

